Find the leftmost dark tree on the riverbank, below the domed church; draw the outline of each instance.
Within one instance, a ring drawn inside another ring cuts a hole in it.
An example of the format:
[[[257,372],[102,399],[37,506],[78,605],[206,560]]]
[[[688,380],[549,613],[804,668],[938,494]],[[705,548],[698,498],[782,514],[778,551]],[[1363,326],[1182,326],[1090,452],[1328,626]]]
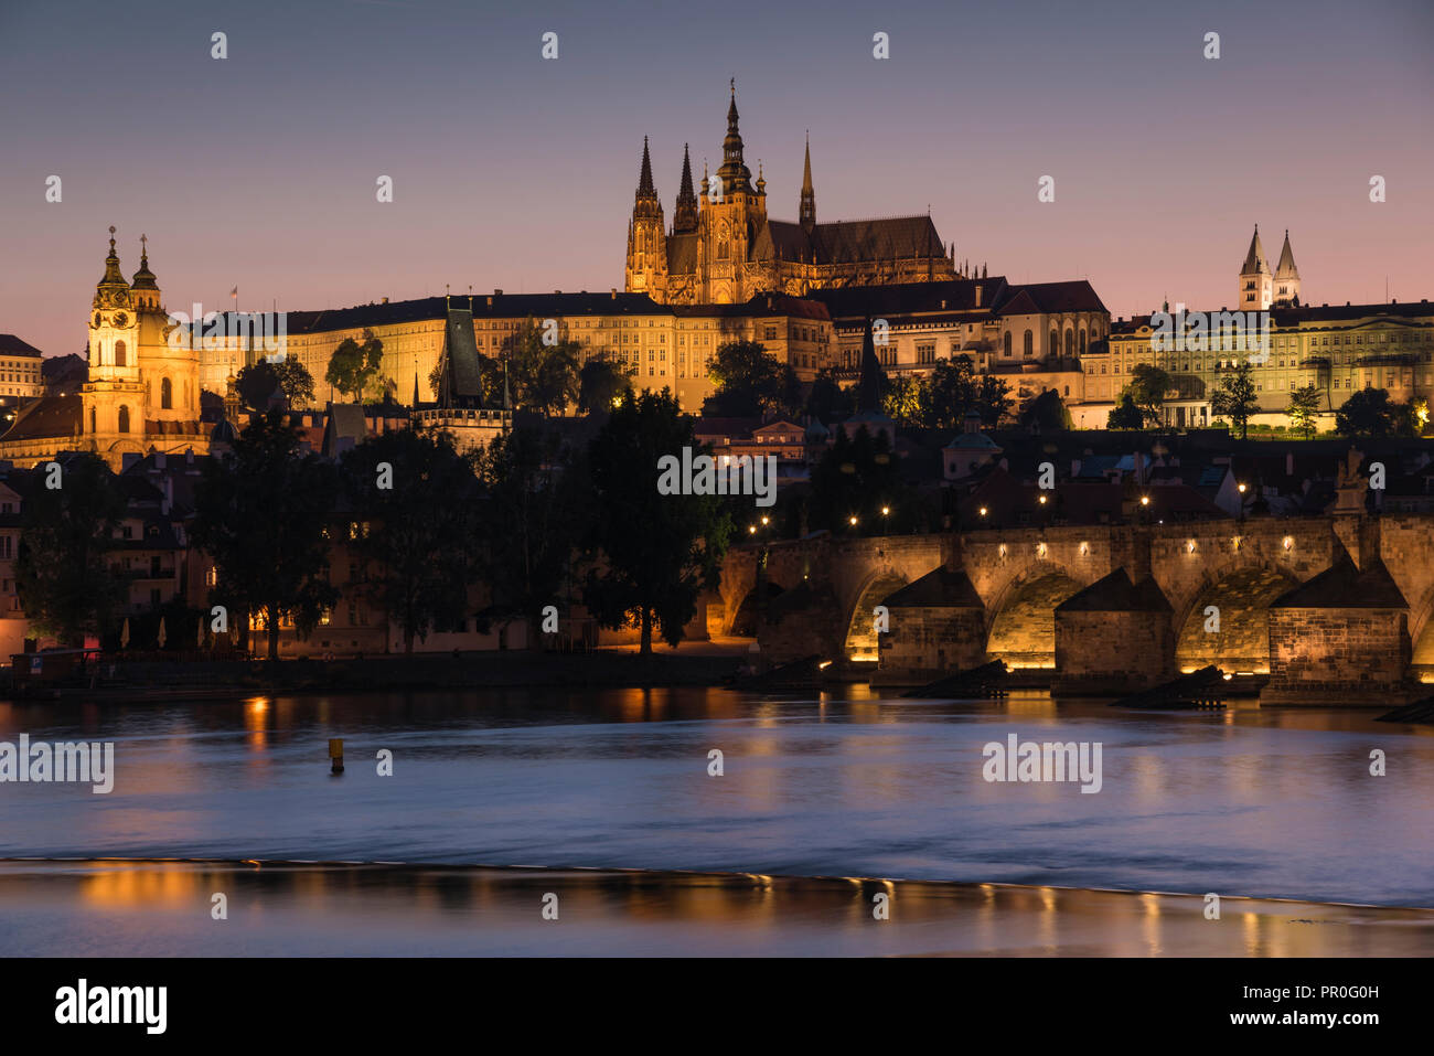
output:
[[[123,598],[109,554],[125,499],[96,455],[66,456],[60,475],[52,473],[42,463],[24,496],[16,591],[36,627],[62,644],[80,646],[86,634],[110,630]],[[49,479],[60,486],[47,488]]]

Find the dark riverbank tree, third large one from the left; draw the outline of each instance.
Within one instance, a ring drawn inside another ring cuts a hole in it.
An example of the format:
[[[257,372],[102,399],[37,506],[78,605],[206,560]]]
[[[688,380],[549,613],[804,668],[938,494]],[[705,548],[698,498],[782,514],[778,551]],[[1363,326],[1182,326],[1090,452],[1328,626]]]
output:
[[[353,539],[369,600],[403,631],[403,651],[467,616],[480,525],[476,481],[447,433],[397,429],[343,456],[346,491],[369,525]]]

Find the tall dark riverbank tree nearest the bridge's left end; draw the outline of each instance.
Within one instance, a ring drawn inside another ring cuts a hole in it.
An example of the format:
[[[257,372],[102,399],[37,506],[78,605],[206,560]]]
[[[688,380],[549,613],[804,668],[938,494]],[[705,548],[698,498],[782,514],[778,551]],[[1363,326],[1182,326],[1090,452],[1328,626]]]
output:
[[[635,620],[641,650],[652,631],[677,646],[697,613],[697,595],[716,581],[731,521],[716,495],[663,495],[658,459],[700,452],[693,422],[668,393],[628,393],[588,448],[592,542],[602,551],[584,600],[605,627]]]

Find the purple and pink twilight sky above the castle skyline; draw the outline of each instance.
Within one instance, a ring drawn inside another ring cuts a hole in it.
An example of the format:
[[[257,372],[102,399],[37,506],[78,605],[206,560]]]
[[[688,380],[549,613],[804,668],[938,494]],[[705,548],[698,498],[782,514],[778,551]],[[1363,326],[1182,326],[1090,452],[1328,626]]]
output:
[[[1233,307],[1255,222],[1308,303],[1434,297],[1431,44],[1430,0],[0,0],[0,333],[80,352],[110,224],[174,310],[621,288],[642,136],[670,224],[731,76],[774,218],[810,129],[819,220],[929,205],[1116,316]]]

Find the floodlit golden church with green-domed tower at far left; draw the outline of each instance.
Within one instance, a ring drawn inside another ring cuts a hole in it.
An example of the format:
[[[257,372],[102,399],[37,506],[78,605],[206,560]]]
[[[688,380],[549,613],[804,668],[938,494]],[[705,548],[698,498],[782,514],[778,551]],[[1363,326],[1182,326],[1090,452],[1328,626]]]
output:
[[[125,455],[209,452],[196,343],[185,333],[171,347],[175,324],[161,304],[146,240],[141,237],[139,270],[129,281],[119,270],[113,227],[109,234],[105,274],[90,303],[89,379],[77,393],[27,403],[0,436],[0,459],[33,466],[87,451],[118,472]]]

